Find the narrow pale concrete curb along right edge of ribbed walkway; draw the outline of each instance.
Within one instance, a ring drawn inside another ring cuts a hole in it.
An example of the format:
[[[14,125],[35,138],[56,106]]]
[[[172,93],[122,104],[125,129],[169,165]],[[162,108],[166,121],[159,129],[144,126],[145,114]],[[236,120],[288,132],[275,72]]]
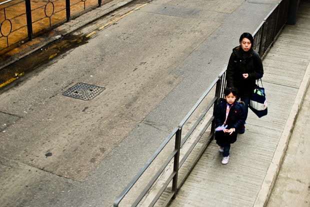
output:
[[[266,207],[268,204],[269,197],[271,195],[279,170],[281,168],[282,161],[284,160],[285,152],[289,143],[289,138],[293,131],[299,109],[302,105],[305,93],[309,86],[309,82],[310,82],[310,62],[307,66],[303,79],[300,83],[295,101],[288,115],[280,140],[277,144],[277,147],[272,157],[272,161],[270,163],[267,174],[261,185],[261,189],[258,192],[253,207]]]

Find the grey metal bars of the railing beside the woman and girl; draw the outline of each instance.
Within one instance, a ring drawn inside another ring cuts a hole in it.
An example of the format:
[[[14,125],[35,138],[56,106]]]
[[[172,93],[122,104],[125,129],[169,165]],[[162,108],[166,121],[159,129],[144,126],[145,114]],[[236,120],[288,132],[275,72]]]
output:
[[[259,24],[258,28],[253,33],[254,42],[258,44],[254,44],[252,47],[254,50],[256,50],[261,58],[265,56],[268,49],[273,44],[274,40],[276,39],[279,31],[283,28],[284,24],[287,21],[287,12],[288,12],[288,5],[290,3],[290,0],[281,0],[277,3],[276,6],[268,13],[268,15],[264,18],[264,20]],[[280,10],[282,8],[282,10]],[[279,19],[279,16],[284,16],[284,19]],[[269,24],[266,26],[266,24]],[[270,27],[271,25],[271,27]],[[280,25],[280,26],[279,26]],[[269,27],[270,28],[269,28]],[[269,30],[268,30],[269,28]],[[212,108],[215,109],[217,105],[217,101],[219,97],[223,97],[223,91],[226,86],[225,83],[225,76],[226,76],[226,69],[225,67],[217,78],[211,83],[211,85],[206,89],[206,91],[202,94],[202,96],[198,99],[198,101],[195,103],[195,105],[189,110],[189,112],[186,114],[186,116],[182,119],[182,121],[179,123],[178,127],[174,128],[174,130],[170,133],[170,135],[166,138],[166,140],[160,145],[160,147],[156,150],[156,152],[151,156],[151,158],[146,162],[146,164],[141,168],[141,170],[137,173],[137,175],[132,179],[132,181],[128,184],[128,186],[123,190],[123,192],[118,196],[116,201],[114,202],[113,207],[118,207],[118,204],[120,201],[124,198],[124,196],[128,193],[130,188],[138,181],[139,177],[143,174],[143,172],[146,170],[146,168],[150,165],[150,163],[157,157],[157,155],[161,152],[163,147],[171,140],[171,138],[175,135],[175,148],[170,154],[170,156],[166,159],[164,164],[161,166],[161,168],[158,170],[156,175],[151,179],[151,181],[148,183],[148,185],[144,188],[142,193],[139,195],[139,197],[135,200],[133,205],[131,207],[136,207],[139,202],[142,200],[142,198],[145,196],[145,194],[148,192],[150,187],[154,184],[156,179],[160,176],[160,174],[163,172],[163,170],[166,168],[168,163],[171,161],[171,159],[174,157],[174,167],[173,172],[169,176],[169,178],[166,180],[164,185],[161,187],[159,192],[156,194],[155,198],[151,201],[149,204],[149,207],[152,207],[157,200],[160,198],[161,194],[164,192],[168,184],[172,181],[172,190],[171,193],[166,198],[165,202],[162,206],[166,206],[169,201],[176,196],[177,190],[180,188],[182,183],[185,181],[186,177],[188,176],[189,172],[193,168],[194,164],[197,162],[197,160],[200,158],[201,154],[204,152],[205,148],[207,147],[208,143],[212,140],[214,136],[214,128],[215,124],[213,122],[214,115],[209,118],[208,122],[205,124],[203,129],[200,131],[199,135],[196,137],[196,139],[193,141],[189,149],[184,154],[181,161],[179,161],[179,151],[180,148],[184,145],[184,143],[187,141],[187,139],[192,135],[194,130],[197,128],[198,124],[201,123],[201,120],[204,118],[206,113]],[[204,98],[209,94],[211,89],[216,86],[215,89],[215,95],[212,98],[212,100],[209,102],[205,110],[201,113],[201,115],[198,117],[196,122],[193,124],[193,126],[189,129],[187,134],[184,136],[184,138],[180,141],[181,137],[181,130],[184,125],[184,123],[189,119],[189,117],[193,114],[193,112],[197,109],[197,107],[200,105],[200,103],[204,100]],[[214,113],[215,110],[213,110]],[[183,173],[182,177],[177,178],[178,176],[178,169],[181,168],[183,163],[188,158],[189,154],[192,152],[200,138],[202,137],[203,133],[206,131],[206,129],[211,125],[211,132],[206,139],[206,141],[202,144],[199,151],[196,153],[196,156],[194,157],[191,164],[187,167],[186,171]],[[177,183],[178,182],[178,183]]]

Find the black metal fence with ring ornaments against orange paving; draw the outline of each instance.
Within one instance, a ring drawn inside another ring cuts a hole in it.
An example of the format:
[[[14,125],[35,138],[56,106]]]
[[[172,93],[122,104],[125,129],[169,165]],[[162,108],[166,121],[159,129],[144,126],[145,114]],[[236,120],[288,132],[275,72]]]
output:
[[[109,0],[104,0],[108,2]],[[32,39],[101,6],[101,0],[6,0],[0,2],[0,51]]]

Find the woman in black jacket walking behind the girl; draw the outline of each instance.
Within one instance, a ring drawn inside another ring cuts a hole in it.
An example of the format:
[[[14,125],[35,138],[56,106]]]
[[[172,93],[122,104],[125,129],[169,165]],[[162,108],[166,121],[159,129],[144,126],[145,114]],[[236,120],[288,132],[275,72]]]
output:
[[[245,32],[239,38],[240,45],[232,49],[229,58],[226,81],[227,87],[237,89],[237,98],[244,102],[245,120],[248,112],[249,98],[254,90],[255,81],[263,75],[262,61],[259,55],[253,50],[253,37]],[[245,124],[245,121],[244,121]],[[238,133],[244,133],[242,125]]]

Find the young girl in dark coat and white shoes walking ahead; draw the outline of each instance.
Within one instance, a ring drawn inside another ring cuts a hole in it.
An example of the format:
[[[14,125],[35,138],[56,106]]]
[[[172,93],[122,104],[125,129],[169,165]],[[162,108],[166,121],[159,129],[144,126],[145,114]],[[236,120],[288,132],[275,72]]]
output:
[[[245,120],[243,113],[243,102],[237,102],[236,89],[228,87],[225,89],[225,99],[219,99],[218,105],[214,113],[215,122],[215,140],[219,146],[219,152],[222,152],[222,164],[229,161],[230,144],[237,139],[236,130]]]

